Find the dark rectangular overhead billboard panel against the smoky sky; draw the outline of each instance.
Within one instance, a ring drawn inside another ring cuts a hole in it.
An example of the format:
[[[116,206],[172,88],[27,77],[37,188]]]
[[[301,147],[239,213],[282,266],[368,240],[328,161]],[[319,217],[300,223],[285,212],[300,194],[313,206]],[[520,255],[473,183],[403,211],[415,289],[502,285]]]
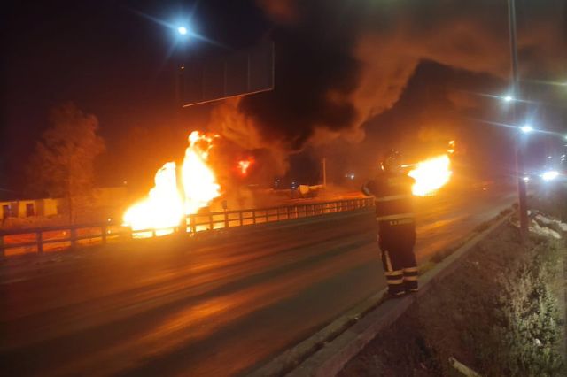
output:
[[[205,104],[274,88],[274,43],[267,42],[229,56],[206,58],[183,67],[183,107]]]

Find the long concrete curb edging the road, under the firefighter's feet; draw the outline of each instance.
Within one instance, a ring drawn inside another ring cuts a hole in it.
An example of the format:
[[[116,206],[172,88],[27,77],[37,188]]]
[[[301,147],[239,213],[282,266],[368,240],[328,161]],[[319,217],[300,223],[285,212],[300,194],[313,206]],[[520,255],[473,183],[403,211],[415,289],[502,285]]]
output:
[[[505,224],[508,219],[509,216],[498,219],[491,227],[474,236],[420,277],[420,291],[416,295],[382,302],[384,289],[250,375],[254,377],[337,375],[377,333],[392,325],[416,299],[426,295],[437,282],[453,273],[463,257],[478,242]]]

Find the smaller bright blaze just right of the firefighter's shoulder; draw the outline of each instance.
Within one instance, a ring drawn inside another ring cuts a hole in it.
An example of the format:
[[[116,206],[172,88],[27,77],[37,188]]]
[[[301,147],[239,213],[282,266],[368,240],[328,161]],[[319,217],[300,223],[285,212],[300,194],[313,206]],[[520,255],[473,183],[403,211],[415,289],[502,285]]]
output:
[[[451,179],[451,160],[447,155],[428,158],[417,163],[408,175],[416,180],[412,192],[415,196],[434,195]]]

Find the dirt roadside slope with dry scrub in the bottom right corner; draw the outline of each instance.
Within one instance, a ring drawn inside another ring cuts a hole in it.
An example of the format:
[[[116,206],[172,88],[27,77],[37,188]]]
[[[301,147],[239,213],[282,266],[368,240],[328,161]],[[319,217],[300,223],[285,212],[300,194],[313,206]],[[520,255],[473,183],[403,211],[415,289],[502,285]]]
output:
[[[522,250],[508,224],[353,358],[341,376],[565,375],[563,240]]]

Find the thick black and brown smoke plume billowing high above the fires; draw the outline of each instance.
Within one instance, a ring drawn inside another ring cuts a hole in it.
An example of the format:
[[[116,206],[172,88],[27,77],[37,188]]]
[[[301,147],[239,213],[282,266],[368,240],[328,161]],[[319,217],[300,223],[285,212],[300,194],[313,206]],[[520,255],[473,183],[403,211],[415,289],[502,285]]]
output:
[[[258,4],[274,22],[267,37],[276,45],[275,89],[226,101],[212,119],[212,127],[245,149],[284,156],[339,136],[361,140],[364,123],[396,104],[423,61],[509,76],[503,0]],[[521,5],[522,73],[559,72],[563,4]]]

